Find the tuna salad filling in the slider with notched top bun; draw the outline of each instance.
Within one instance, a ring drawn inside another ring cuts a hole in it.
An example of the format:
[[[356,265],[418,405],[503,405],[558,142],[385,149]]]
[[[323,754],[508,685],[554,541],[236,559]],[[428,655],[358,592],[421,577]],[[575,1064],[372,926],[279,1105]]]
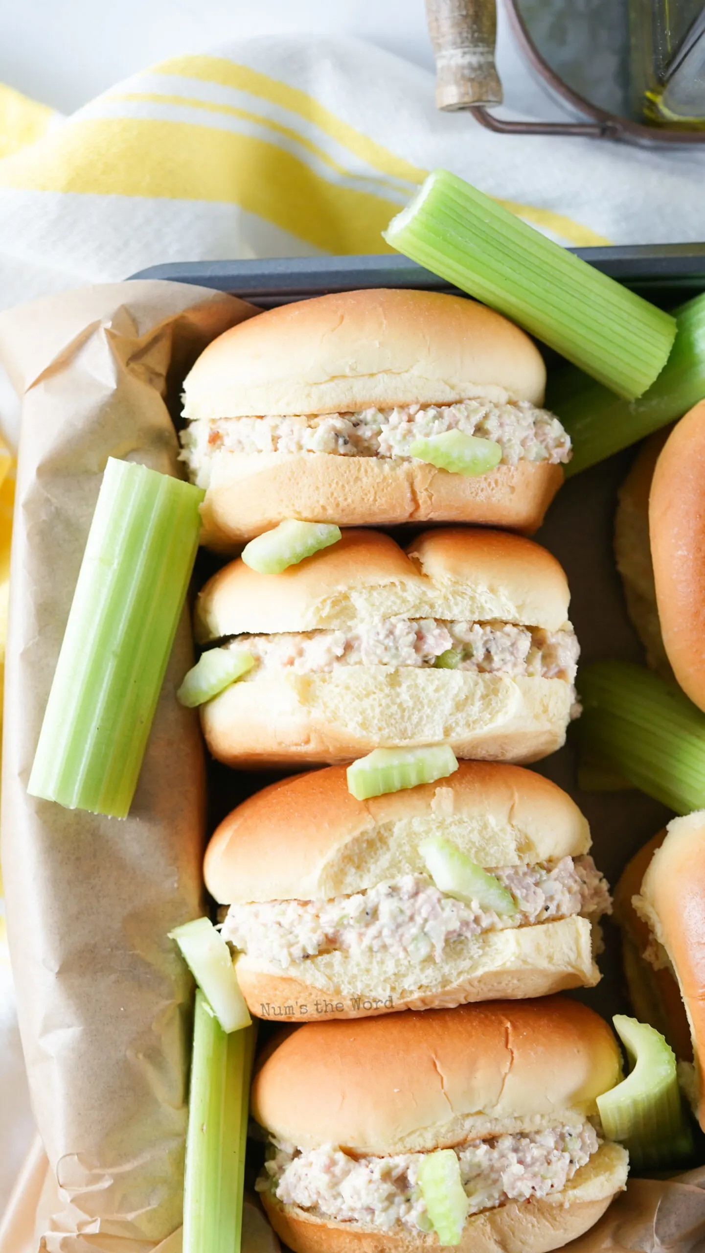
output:
[[[291,668],[297,674],[334,665],[436,665],[566,683],[575,680],[580,655],[572,628],[550,632],[436,618],[386,618],[363,623],[349,635],[342,630],[238,635],[230,647],[247,649],[260,665]]]

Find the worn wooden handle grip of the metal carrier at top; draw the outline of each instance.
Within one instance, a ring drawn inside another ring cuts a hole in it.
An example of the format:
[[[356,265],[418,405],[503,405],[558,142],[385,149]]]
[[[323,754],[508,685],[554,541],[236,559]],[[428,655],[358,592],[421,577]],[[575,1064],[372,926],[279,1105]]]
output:
[[[426,0],[436,58],[436,104],[467,109],[501,104],[495,69],[496,0]]]

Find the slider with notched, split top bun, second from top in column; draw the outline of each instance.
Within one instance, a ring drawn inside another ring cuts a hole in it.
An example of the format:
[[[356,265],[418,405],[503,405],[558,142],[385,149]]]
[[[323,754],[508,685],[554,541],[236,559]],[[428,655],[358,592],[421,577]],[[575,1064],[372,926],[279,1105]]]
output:
[[[208,747],[240,767],[437,743],[537,761],[576,712],[569,599],[545,549],[482,529],[427,531],[406,553],[348,530],[274,575],[233,561],[202,590],[195,635],[250,668],[202,705]]]

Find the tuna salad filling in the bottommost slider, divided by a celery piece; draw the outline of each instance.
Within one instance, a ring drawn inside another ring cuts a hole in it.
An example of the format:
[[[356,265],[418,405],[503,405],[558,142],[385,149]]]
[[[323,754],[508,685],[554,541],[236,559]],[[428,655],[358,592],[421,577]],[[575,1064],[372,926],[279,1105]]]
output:
[[[590,1123],[456,1145],[468,1213],[561,1192],[599,1146]],[[431,1229],[418,1188],[422,1153],[353,1158],[332,1144],[304,1152],[273,1141],[269,1154],[255,1187],[284,1205],[382,1230]]]

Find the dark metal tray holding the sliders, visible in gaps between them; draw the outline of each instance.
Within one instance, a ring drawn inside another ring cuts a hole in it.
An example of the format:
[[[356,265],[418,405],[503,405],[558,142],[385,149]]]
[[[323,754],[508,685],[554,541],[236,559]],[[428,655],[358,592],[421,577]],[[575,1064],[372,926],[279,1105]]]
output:
[[[705,291],[705,243],[619,248],[572,249],[625,286],[666,307]],[[194,283],[230,292],[263,308],[322,296],[333,291],[366,287],[416,287],[452,292],[451,284],[399,256],[294,257],[260,261],[180,262],[153,266],[133,278],[158,278]],[[546,353],[550,358],[552,355]],[[616,492],[634,457],[634,449],[610,457],[561,489],[535,536],[557,556],[571,586],[571,620],[581,642],[582,660],[617,657],[642,660],[642,649],[627,619],[620,578],[612,555],[612,520]],[[202,550],[197,585],[223,559]],[[616,883],[626,861],[671,817],[670,812],[641,792],[580,792],[570,742],[557,753],[535,763],[532,769],[552,778],[579,803],[594,838],[595,860],[609,882]],[[294,767],[296,769],[296,767]],[[283,778],[292,771],[239,772],[209,762],[209,831],[247,796]],[[594,990],[569,995],[591,1005],[610,1019],[631,1012],[621,972],[620,941],[611,920],[605,925],[605,951],[599,959],[602,981]],[[273,1024],[262,1022],[260,1039]],[[248,1150],[248,1182],[252,1187],[258,1153]],[[695,1162],[705,1160],[705,1139],[696,1135]],[[284,1247],[283,1247],[284,1253]]]

